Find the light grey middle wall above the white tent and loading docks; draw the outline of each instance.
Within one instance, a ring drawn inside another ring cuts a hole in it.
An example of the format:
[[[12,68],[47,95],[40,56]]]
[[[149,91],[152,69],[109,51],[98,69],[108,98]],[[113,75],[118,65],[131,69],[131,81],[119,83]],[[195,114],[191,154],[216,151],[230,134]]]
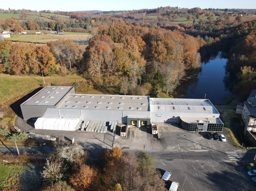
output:
[[[119,123],[127,123],[127,116],[131,116],[131,115],[132,116],[150,116],[150,111],[49,108],[46,110],[43,116],[44,117],[74,117],[74,118],[80,118],[81,121],[117,121],[118,120]]]

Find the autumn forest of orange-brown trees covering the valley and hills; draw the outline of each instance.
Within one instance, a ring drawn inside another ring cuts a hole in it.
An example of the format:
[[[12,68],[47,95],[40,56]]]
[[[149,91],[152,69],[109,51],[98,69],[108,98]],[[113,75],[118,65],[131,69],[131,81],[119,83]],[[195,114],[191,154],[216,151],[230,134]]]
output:
[[[243,20],[254,15],[255,10],[160,7],[111,15],[53,12],[69,19],[56,15],[49,22],[28,19],[34,13],[31,10],[15,11],[11,10],[19,13],[23,21],[1,19],[1,31],[80,31],[90,32],[93,37],[86,49],[64,39],[49,41],[47,45],[5,39],[0,42],[0,72],[3,73],[75,72],[94,88],[118,86],[123,94],[159,97],[160,91],[171,94],[184,76],[200,71],[201,62],[207,62],[214,50],[225,49],[228,87],[236,92],[244,84],[250,86],[246,88],[248,92],[254,87],[256,20]],[[52,12],[40,12],[44,13]],[[188,22],[172,24],[177,17],[186,17]]]

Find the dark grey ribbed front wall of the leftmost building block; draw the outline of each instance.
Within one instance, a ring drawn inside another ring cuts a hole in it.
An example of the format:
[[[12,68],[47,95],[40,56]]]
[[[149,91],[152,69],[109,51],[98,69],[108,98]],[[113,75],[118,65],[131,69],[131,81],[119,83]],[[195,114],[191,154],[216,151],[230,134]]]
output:
[[[27,120],[33,117],[42,117],[47,108],[55,108],[55,106],[47,105],[20,105],[23,119]]]

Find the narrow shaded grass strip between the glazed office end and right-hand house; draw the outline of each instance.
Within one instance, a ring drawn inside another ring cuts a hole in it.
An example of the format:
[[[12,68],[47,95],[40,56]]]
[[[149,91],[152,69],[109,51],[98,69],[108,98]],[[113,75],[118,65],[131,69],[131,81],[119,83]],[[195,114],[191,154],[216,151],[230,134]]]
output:
[[[236,110],[233,108],[237,106],[237,103],[239,103],[238,98],[234,99],[232,102],[230,102],[227,105],[216,105],[215,108],[218,110],[220,114],[220,118],[222,122],[224,123],[224,127],[228,129],[228,132],[230,134],[230,137],[232,138],[234,144],[239,147],[240,149],[246,150],[245,147],[242,147],[241,144],[238,142],[237,138],[234,135],[234,130],[232,126],[232,119],[237,118],[241,119],[240,114],[236,114]]]

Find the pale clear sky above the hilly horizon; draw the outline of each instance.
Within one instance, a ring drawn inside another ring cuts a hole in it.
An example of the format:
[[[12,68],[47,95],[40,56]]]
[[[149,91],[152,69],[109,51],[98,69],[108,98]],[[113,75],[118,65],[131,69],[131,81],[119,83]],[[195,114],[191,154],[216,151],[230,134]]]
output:
[[[0,8],[50,10],[50,11],[128,11],[143,8],[157,8],[172,6],[181,8],[253,8],[256,9],[256,0],[10,0],[2,1]]]

